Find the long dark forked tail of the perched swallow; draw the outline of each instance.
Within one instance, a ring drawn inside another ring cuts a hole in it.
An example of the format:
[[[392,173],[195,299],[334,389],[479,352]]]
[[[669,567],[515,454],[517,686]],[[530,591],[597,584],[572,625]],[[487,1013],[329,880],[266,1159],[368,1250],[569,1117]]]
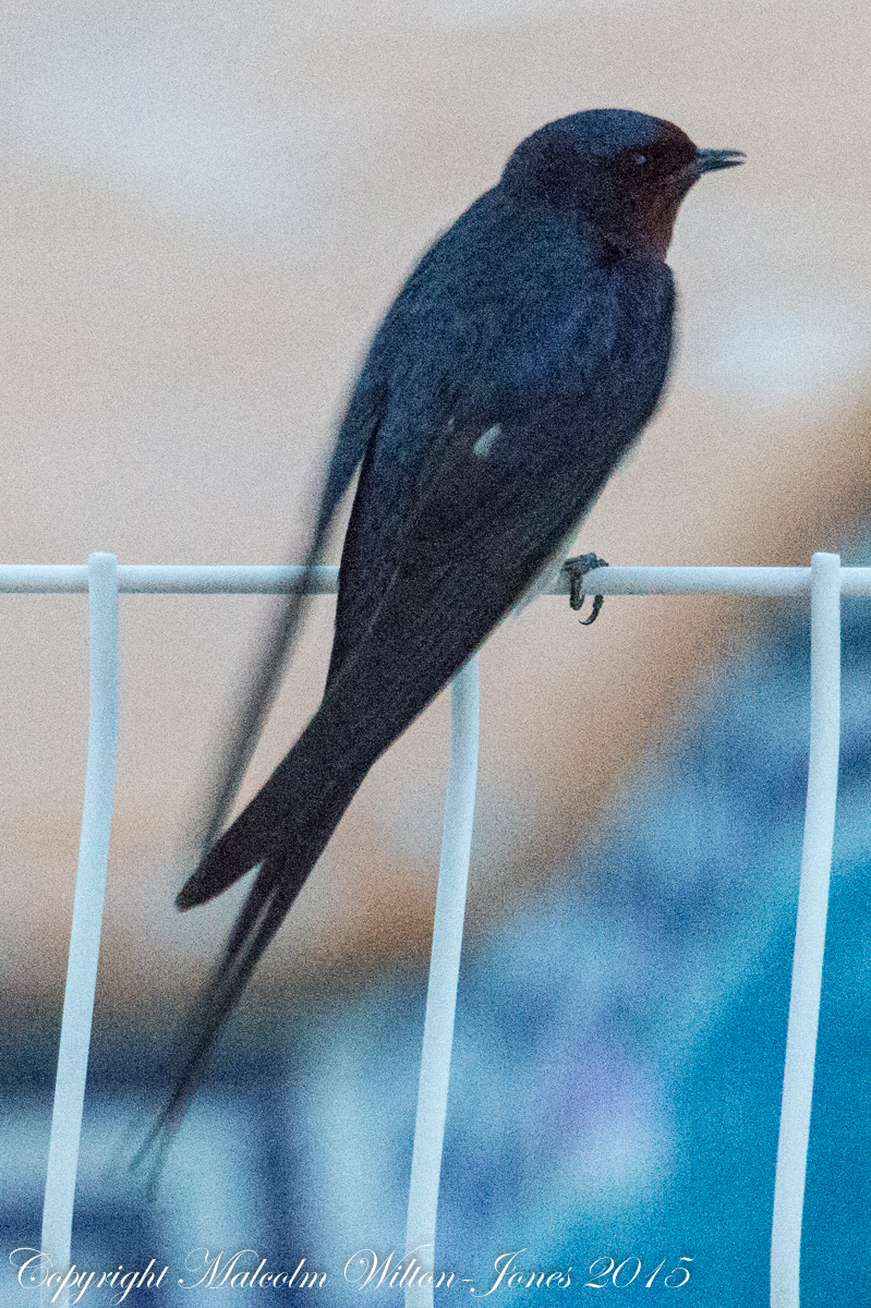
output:
[[[318,726],[315,715],[178,896],[182,909],[203,904],[259,865],[224,954],[187,1020],[170,1099],[133,1159],[137,1167],[153,1156],[152,1190],[221,1029],[366,774],[367,766],[349,765],[347,753],[337,756],[343,770],[336,773],[332,753],[326,776]]]

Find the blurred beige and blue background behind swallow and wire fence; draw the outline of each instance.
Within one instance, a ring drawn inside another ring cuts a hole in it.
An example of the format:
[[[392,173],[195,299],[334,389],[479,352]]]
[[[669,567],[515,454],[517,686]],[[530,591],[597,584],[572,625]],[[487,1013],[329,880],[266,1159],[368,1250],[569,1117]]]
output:
[[[3,561],[298,561],[344,398],[403,277],[518,140],[594,106],[748,158],[681,211],[668,392],[579,548],[621,564],[871,557],[863,5],[58,0],[0,5],[0,22]],[[127,1172],[174,1023],[239,901],[173,908],[268,604],[122,599],[73,1256],[296,1252],[339,1301],[358,1292],[341,1278],[354,1249],[401,1252],[443,700],[361,789],[157,1201]],[[0,611],[8,1250],[39,1233],[88,650],[84,596],[1,596]],[[316,706],[332,611],[311,602],[242,800]],[[871,650],[862,606],[846,617],[808,1304],[855,1301],[868,1277]],[[613,599],[581,630],[545,598],[485,646],[438,1265],[483,1286],[522,1247],[539,1270],[687,1256],[694,1301],[766,1301],[803,621],[782,603]],[[0,1301],[22,1294],[8,1267]]]

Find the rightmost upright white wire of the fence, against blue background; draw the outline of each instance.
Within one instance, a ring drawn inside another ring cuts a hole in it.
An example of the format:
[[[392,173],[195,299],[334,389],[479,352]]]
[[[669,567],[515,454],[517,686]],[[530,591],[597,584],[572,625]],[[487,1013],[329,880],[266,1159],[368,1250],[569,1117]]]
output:
[[[841,560],[811,560],[811,752],[772,1219],[772,1308],[799,1308],[804,1173],[841,734]]]

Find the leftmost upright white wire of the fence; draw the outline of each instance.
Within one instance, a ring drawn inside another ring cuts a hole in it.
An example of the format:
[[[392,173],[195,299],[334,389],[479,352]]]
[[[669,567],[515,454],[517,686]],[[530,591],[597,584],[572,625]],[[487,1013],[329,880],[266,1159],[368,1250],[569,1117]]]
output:
[[[42,1215],[42,1252],[51,1258],[56,1269],[69,1265],[78,1141],[115,790],[118,561],[114,555],[95,553],[88,560],[88,633],[90,662],[88,770]]]

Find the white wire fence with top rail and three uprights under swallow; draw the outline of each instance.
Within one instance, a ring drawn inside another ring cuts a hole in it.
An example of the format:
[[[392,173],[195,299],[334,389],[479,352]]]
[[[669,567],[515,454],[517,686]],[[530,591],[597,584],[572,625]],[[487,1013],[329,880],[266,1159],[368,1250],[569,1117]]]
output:
[[[313,593],[332,594],[337,569],[318,568]],[[103,887],[118,751],[119,594],[281,594],[302,568],[118,565],[92,555],[82,565],[0,566],[0,593],[89,595],[90,721],[76,899],[55,1084],[42,1249],[69,1265],[88,1050],[97,980]],[[772,1224],[772,1308],[799,1305],[804,1171],[832,862],[840,732],[840,598],[871,596],[871,568],[841,568],[817,553],[810,568],[608,568],[585,578],[587,594],[702,593],[811,596],[811,744],[793,988]],[[553,594],[568,594],[560,578]],[[454,1033],[466,883],[477,778],[477,658],[451,685],[451,753],[430,957],[407,1252],[415,1254],[407,1308],[433,1303],[433,1245]],[[409,1264],[411,1266],[411,1264]]]

